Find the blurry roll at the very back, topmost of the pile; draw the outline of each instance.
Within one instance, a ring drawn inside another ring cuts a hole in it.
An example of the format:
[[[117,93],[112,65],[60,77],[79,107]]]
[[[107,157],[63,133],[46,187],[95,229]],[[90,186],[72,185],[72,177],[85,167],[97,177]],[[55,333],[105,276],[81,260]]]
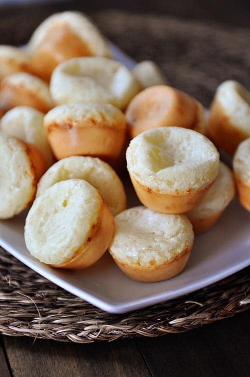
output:
[[[82,56],[111,56],[98,29],[78,12],[48,17],[34,31],[28,48],[34,71],[46,81],[54,68],[65,60]]]

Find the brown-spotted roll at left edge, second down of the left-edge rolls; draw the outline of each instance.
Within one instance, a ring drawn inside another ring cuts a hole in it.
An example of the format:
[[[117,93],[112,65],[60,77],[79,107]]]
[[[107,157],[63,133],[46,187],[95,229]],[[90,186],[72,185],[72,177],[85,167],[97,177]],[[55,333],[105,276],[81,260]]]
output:
[[[0,111],[4,113],[15,106],[31,106],[42,113],[53,107],[48,85],[28,73],[14,73],[0,84]]]

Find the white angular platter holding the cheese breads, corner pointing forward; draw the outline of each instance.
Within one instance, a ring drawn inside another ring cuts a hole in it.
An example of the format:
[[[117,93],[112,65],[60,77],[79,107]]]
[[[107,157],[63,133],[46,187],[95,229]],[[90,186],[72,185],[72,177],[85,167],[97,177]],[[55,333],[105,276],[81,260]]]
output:
[[[128,68],[134,62],[111,45],[116,60]],[[129,181],[125,182],[128,207],[138,205]],[[136,282],[126,277],[108,253],[93,266],[73,271],[54,269],[30,256],[23,238],[26,213],[0,221],[0,245],[21,262],[53,283],[111,313],[125,313],[179,297],[214,283],[250,264],[250,213],[236,199],[219,222],[195,238],[185,270],[157,283]]]

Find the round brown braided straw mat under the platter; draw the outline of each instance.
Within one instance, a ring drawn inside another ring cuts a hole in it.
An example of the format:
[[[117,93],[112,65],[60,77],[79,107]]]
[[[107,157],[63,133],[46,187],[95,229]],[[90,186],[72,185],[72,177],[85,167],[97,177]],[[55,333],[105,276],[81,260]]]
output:
[[[30,33],[43,16],[34,14],[33,24],[24,29]],[[205,106],[223,80],[232,78],[250,87],[250,29],[114,11],[92,16],[124,52],[137,61],[154,60],[172,86]],[[21,21],[17,16],[5,24],[3,20],[2,38],[8,36],[7,26]],[[23,35],[19,37],[18,42],[24,42]],[[0,332],[82,343],[182,332],[249,309],[249,272],[250,267],[145,309],[110,314],[57,287],[0,248]]]

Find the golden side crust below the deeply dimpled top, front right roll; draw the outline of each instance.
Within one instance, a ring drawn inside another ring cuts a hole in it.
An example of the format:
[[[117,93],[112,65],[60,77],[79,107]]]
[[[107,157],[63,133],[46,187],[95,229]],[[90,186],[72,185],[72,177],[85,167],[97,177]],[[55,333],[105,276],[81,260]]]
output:
[[[130,174],[129,174],[130,175]],[[131,182],[134,190],[144,206],[161,213],[179,214],[190,211],[196,207],[203,199],[207,190],[212,186],[213,182],[202,187],[199,190],[191,191],[191,188],[185,193],[162,194],[155,192],[149,187],[140,185],[131,175]]]

